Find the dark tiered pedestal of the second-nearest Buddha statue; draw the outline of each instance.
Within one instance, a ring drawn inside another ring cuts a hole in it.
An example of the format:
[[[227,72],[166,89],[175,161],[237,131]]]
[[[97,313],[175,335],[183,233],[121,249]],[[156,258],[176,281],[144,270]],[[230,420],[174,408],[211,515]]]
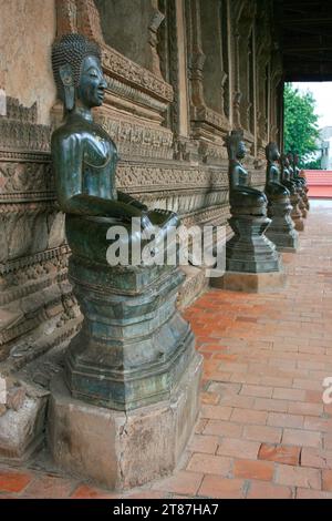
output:
[[[281,270],[274,244],[264,232],[270,224],[266,216],[234,215],[229,224],[235,235],[226,244],[226,270],[270,273]]]

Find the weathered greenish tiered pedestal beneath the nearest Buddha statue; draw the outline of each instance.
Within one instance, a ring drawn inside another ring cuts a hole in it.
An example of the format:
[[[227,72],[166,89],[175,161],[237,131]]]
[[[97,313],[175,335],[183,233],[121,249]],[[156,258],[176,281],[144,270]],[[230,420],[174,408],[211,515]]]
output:
[[[117,410],[167,399],[195,355],[173,266],[110,266],[107,219],[70,217],[69,278],[84,316],[65,358],[73,397]],[[131,243],[133,246],[133,243]]]

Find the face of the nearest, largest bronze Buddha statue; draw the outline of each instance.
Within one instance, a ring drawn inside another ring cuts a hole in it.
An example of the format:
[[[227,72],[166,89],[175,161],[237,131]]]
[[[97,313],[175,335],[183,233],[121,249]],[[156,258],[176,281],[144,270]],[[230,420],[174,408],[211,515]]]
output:
[[[83,106],[92,109],[102,105],[106,86],[100,60],[95,57],[84,58],[77,86],[77,99]]]

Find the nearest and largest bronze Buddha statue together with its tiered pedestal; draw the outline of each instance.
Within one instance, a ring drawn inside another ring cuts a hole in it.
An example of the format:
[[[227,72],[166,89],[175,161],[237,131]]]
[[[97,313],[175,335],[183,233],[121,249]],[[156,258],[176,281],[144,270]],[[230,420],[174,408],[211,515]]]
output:
[[[56,194],[66,214],[69,279],[84,318],[65,351],[64,378],[79,399],[135,409],[169,396],[195,359],[194,335],[175,307],[184,280],[178,266],[151,265],[143,255],[112,264],[108,232],[124,229],[123,246],[141,254],[147,231],[155,243],[166,242],[179,219],[116,190],[116,145],[92,115],[106,89],[96,43],[64,35],[52,64],[64,103],[64,122],[52,136]]]

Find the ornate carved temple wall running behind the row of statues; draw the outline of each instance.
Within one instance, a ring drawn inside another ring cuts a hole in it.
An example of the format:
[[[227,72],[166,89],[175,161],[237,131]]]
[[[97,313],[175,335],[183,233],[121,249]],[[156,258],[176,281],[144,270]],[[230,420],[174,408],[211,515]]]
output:
[[[260,188],[264,146],[280,137],[281,69],[263,3],[0,0],[2,372],[21,370],[48,387],[53,351],[80,323],[50,161],[51,124],[62,113],[50,67],[55,33],[82,32],[102,47],[107,91],[96,118],[120,150],[118,187],[185,224],[227,226],[225,136],[243,130],[246,166]],[[185,284],[188,304],[207,284],[204,270],[190,269]]]

